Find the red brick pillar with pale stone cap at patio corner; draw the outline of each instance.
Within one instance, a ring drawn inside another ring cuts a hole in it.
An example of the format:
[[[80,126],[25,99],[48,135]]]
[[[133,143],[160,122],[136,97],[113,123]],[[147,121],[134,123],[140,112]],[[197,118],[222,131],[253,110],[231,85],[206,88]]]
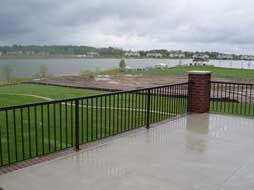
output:
[[[210,108],[210,71],[189,72],[189,101],[188,111],[192,113],[206,113]]]

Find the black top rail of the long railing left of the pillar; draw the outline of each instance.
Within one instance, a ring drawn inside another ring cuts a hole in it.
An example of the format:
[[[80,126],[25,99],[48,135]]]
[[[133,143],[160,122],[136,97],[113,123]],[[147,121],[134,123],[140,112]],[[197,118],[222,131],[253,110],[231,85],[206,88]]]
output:
[[[42,101],[42,102],[29,103],[29,104],[4,106],[4,107],[0,107],[0,111],[7,111],[7,110],[12,110],[12,109],[26,108],[26,107],[32,107],[32,106],[50,105],[50,104],[61,103],[61,102],[65,103],[65,102],[70,102],[70,101],[75,101],[75,100],[91,99],[91,98],[96,98],[96,97],[98,98],[98,97],[111,96],[111,95],[117,95],[117,94],[125,94],[125,93],[133,93],[133,92],[141,92],[141,91],[146,91],[146,90],[181,86],[181,85],[187,85],[187,84],[189,84],[189,83],[184,82],[184,83],[176,83],[176,84],[168,84],[168,85],[160,85],[160,86],[154,86],[154,87],[148,87],[148,88],[141,88],[141,89],[135,89],[135,90],[123,90],[123,91],[109,92],[109,93],[89,95],[89,96],[80,96],[80,97],[75,97],[75,98],[64,98],[64,99]]]

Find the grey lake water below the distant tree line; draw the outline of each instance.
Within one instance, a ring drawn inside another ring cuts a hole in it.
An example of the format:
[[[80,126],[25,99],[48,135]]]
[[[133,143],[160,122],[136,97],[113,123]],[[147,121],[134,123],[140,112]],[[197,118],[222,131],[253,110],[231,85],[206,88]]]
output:
[[[5,64],[10,64],[14,69],[12,76],[29,77],[39,71],[40,65],[47,65],[51,74],[77,74],[81,70],[117,68],[119,61],[120,59],[0,59],[0,69]],[[192,62],[191,59],[126,59],[125,61],[130,68],[153,67],[158,63],[165,63],[173,67]],[[254,69],[254,61],[210,60],[208,64],[228,68]]]

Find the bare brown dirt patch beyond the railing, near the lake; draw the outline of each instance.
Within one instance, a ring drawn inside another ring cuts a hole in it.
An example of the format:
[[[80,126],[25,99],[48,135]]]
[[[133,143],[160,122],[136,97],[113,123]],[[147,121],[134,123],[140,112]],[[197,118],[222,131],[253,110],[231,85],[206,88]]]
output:
[[[152,86],[175,84],[186,82],[187,76],[167,76],[167,75],[117,75],[117,76],[97,76],[89,78],[84,76],[61,76],[36,80],[36,83],[46,83],[53,85],[65,85],[84,88],[102,88],[114,90],[131,90]],[[214,80],[232,81],[227,78],[216,78]]]

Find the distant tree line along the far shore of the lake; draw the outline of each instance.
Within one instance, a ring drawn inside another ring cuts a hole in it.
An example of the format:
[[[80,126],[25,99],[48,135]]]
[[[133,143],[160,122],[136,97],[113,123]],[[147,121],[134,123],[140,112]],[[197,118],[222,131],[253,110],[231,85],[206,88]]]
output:
[[[131,50],[129,50],[131,51]],[[73,46],[73,45],[51,45],[51,46],[37,46],[37,45],[12,45],[0,46],[1,56],[78,56],[84,55],[88,52],[97,53],[95,57],[102,58],[122,58],[128,50],[121,48],[106,47],[95,48],[90,46]],[[148,53],[159,53],[162,58],[172,58],[172,54],[184,54],[184,58],[192,58],[195,54],[206,54],[210,59],[216,59],[219,52],[192,52],[181,50],[140,50],[139,57],[144,58]],[[240,55],[233,55],[234,59],[239,59]]]

